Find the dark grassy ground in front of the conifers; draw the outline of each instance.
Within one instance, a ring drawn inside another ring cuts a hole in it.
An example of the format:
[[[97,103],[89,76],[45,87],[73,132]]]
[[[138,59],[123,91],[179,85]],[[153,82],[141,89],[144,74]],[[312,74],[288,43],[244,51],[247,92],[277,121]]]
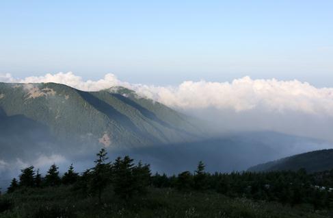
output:
[[[0,217],[330,217],[328,211],[314,211],[305,205],[291,208],[215,192],[181,193],[174,189],[150,189],[148,195],[126,201],[107,189],[103,204],[97,202],[96,197],[83,197],[70,186],[21,189],[1,197]]]

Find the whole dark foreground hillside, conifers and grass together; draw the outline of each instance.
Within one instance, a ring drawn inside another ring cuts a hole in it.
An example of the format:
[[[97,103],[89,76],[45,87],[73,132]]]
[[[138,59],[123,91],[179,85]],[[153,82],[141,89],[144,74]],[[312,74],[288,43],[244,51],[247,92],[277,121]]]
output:
[[[42,176],[21,170],[0,198],[0,217],[332,217],[333,170],[166,175],[129,156],[109,162],[101,149],[94,167]]]

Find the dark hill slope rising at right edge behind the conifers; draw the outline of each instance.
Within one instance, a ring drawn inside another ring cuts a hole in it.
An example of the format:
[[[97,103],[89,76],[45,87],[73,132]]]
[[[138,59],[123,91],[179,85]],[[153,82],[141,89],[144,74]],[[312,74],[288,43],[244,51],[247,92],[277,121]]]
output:
[[[323,149],[304,154],[297,154],[261,165],[250,167],[248,171],[284,171],[304,168],[308,172],[333,169],[333,149]]]

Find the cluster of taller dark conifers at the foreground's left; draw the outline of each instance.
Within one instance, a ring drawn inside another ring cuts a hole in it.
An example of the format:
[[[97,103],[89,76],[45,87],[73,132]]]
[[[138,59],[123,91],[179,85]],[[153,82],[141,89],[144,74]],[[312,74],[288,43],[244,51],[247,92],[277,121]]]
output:
[[[139,162],[133,163],[129,156],[118,157],[114,162],[107,162],[105,149],[96,154],[95,165],[85,170],[81,175],[70,165],[68,171],[61,177],[58,167],[53,164],[46,175],[42,177],[34,167],[21,170],[18,179],[12,179],[8,193],[22,188],[43,188],[48,186],[72,185],[72,191],[86,196],[96,195],[101,202],[103,191],[112,186],[114,193],[128,199],[135,194],[145,194],[150,185],[150,166]]]

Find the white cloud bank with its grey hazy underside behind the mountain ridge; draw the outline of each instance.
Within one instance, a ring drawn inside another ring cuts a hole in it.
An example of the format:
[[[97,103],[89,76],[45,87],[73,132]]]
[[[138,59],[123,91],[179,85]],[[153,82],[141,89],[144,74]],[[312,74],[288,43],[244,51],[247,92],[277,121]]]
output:
[[[0,75],[0,82],[55,82],[89,91],[124,86],[142,97],[207,119],[219,130],[269,130],[333,141],[333,88],[297,80],[242,77],[232,82],[201,80],[154,86],[124,82],[114,74],[85,81],[68,72],[23,79],[5,74]]]

